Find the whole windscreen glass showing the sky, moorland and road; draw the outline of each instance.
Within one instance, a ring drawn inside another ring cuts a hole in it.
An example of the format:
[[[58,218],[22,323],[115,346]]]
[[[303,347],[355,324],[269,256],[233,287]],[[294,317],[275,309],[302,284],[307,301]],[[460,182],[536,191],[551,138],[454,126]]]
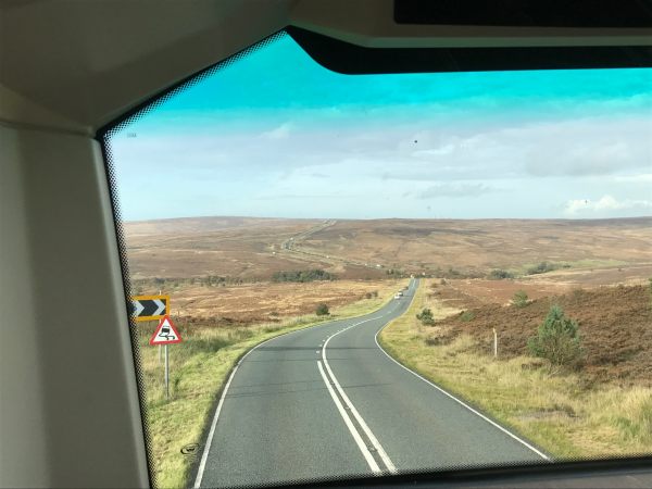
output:
[[[649,454],[651,102],[281,35],[112,130],[156,484]]]

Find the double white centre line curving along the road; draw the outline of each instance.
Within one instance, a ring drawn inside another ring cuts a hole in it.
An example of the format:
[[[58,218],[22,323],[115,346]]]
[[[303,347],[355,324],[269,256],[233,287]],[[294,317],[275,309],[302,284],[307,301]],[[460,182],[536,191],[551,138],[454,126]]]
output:
[[[343,333],[347,329],[350,329],[360,324],[378,319],[380,317],[384,316],[372,317],[369,319],[361,321],[360,323],[355,323],[349,326],[348,328],[341,329],[336,334],[329,336],[326,339],[324,347],[322,348],[322,361],[317,360],[317,367],[319,368],[319,374],[322,374],[322,378],[324,379],[324,383],[328,388],[328,392],[333,398],[333,402],[335,402],[337,410],[344,419],[347,428],[349,428],[353,440],[355,440],[355,443],[362,452],[362,455],[364,456],[364,460],[368,464],[369,468],[374,474],[379,475],[386,473],[396,474],[397,468],[394,467],[394,464],[387,455],[387,452],[385,451],[374,432],[369,429],[364,418],[360,415],[360,413],[358,412],[358,410],[355,409],[355,406],[340,386],[339,381],[337,380],[337,377],[330,369],[330,365],[328,364],[328,360],[326,359],[326,347],[328,346],[330,339],[336,337],[340,333]],[[322,362],[324,363],[324,365],[322,365]],[[324,369],[324,367],[326,368]]]

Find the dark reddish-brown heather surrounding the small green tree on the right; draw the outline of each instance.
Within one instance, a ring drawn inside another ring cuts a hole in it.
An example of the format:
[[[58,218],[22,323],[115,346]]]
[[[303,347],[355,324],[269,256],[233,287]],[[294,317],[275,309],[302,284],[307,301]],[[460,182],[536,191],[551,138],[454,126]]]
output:
[[[447,286],[434,284],[429,294]],[[442,291],[443,291],[442,290]],[[652,387],[652,309],[648,286],[574,289],[562,296],[547,296],[525,308],[482,304],[467,309],[472,321],[453,315],[438,322],[440,340],[468,334],[477,349],[489,354],[492,328],[499,337],[501,358],[527,354],[527,339],[535,334],[553,304],[579,323],[585,349],[582,383],[615,383],[619,386]]]

